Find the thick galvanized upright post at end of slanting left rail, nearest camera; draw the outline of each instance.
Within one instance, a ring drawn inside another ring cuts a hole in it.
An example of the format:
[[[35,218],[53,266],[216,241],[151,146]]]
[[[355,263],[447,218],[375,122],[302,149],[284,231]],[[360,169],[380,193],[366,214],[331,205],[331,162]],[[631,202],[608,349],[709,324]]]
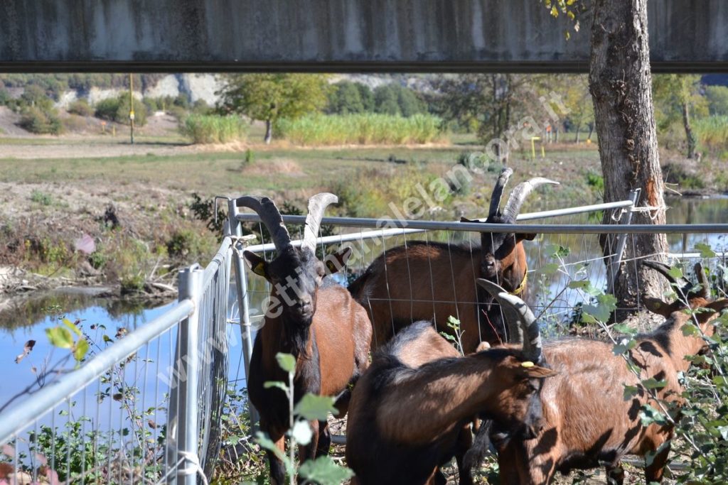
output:
[[[199,304],[202,299],[202,275],[199,265],[179,273],[179,300],[192,300],[195,308],[179,327],[179,353],[175,365],[180,369],[177,390],[177,456],[182,465],[175,473],[184,484],[197,485],[199,466],[199,430],[197,420],[199,389]]]

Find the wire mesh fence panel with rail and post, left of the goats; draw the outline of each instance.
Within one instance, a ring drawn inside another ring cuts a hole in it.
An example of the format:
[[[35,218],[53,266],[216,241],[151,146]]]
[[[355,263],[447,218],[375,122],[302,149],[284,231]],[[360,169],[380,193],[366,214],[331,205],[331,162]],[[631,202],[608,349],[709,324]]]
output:
[[[66,355],[1,409],[0,483],[192,484],[211,476],[231,255],[226,238],[207,268],[181,272],[178,302],[135,329],[59,321],[56,353]]]

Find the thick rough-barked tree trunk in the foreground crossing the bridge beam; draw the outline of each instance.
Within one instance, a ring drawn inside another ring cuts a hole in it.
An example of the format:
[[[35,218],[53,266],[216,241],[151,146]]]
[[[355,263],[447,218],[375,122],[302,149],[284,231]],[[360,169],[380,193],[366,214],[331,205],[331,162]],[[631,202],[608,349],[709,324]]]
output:
[[[589,89],[594,103],[599,156],[604,175],[604,201],[629,198],[641,188],[638,205],[657,207],[636,212],[633,224],[664,224],[663,181],[657,153],[649,67],[647,0],[595,0],[592,26]],[[614,223],[611,212],[604,224]],[[612,254],[614,237],[601,238],[604,254]],[[662,294],[662,276],[633,258],[668,249],[664,234],[630,235],[614,282],[619,308],[628,313],[641,305],[644,294]],[[621,320],[625,313],[615,317]]]

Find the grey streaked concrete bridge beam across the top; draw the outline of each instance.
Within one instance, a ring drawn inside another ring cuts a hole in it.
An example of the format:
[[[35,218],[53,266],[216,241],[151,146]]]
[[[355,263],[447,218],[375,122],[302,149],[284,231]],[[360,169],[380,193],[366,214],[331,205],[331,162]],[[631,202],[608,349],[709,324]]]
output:
[[[0,72],[586,72],[538,0],[3,0]],[[610,28],[618,28],[618,23]],[[728,72],[727,0],[650,0],[652,67]]]

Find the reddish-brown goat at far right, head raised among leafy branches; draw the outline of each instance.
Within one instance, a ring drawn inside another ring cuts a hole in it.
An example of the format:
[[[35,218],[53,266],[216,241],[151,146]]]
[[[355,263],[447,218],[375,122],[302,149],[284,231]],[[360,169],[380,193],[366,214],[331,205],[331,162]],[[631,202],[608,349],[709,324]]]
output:
[[[688,305],[645,299],[647,307],[666,320],[654,331],[638,335],[636,346],[630,350],[630,357],[641,369],[640,377],[628,370],[621,356],[614,355],[608,342],[568,338],[545,343],[542,364],[547,363],[558,375],[546,380],[540,393],[544,427],[535,439],[511,439],[498,446],[502,483],[547,484],[556,471],[568,473],[574,468],[606,464],[610,483],[622,484],[620,460],[625,454],[654,454],[652,462],[646,464],[646,482],[662,480],[673,426],[641,424],[642,406],[658,405],[639,382],[649,377],[665,380],[666,385],[657,397],[680,406],[683,401],[678,372],[687,371],[690,363],[686,356],[698,353],[705,345],[703,337],[683,334],[682,327],[693,318],[685,310],[703,308],[694,317],[700,330],[711,336],[711,321],[728,308],[728,300],[708,300],[708,285],[700,264],[695,267],[702,285],[697,292],[684,278],[671,276],[664,263],[643,264],[680,286]],[[520,298],[493,283],[488,283],[488,292],[502,305],[506,318],[522,323],[535,321]],[[624,385],[636,386],[636,396],[625,401]]]

